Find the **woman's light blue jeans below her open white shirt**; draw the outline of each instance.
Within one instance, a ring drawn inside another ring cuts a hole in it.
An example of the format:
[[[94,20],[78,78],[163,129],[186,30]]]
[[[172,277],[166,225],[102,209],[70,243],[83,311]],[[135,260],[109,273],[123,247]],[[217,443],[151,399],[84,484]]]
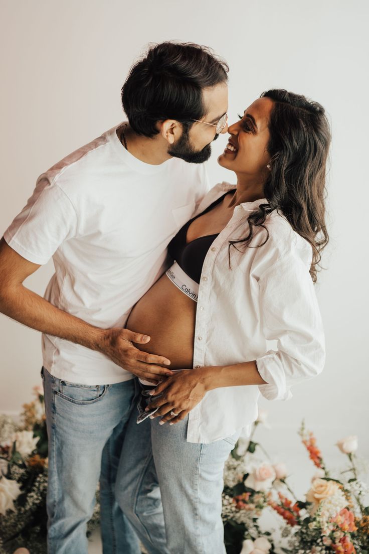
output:
[[[137,424],[137,414],[124,438],[116,499],[143,545],[149,554],[225,554],[223,470],[239,433],[188,443],[188,417],[174,425],[159,425],[160,417]]]

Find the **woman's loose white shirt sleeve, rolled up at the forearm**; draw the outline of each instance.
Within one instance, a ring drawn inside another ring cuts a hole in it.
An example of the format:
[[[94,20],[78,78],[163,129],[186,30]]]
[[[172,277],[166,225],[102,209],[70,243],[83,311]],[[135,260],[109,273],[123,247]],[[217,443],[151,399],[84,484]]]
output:
[[[292,384],[319,375],[325,361],[324,331],[309,269],[298,255],[286,255],[259,279],[263,335],[277,341],[256,360],[268,400],[288,400]]]

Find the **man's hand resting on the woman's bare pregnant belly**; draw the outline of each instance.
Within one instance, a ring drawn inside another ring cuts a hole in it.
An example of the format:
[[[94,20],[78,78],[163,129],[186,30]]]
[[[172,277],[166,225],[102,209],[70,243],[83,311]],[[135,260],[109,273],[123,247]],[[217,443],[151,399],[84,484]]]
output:
[[[124,370],[154,384],[170,377],[173,372],[161,365],[169,365],[168,358],[138,350],[133,342],[145,344],[150,337],[129,331],[129,329],[106,329],[102,332],[98,351],[102,352]]]

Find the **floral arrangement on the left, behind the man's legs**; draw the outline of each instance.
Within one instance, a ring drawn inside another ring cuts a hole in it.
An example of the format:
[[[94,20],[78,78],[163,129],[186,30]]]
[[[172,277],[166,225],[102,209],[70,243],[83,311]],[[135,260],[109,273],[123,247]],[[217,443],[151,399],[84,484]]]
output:
[[[0,415],[0,554],[46,553],[48,438],[44,397],[34,387],[20,423]],[[99,522],[99,505],[89,522]]]

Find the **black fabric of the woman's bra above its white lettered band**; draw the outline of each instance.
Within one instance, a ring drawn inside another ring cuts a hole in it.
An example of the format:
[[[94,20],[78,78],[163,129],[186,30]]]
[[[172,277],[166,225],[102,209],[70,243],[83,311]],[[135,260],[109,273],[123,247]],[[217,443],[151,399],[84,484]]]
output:
[[[180,268],[196,283],[200,283],[202,265],[204,265],[207,251],[219,233],[205,235],[205,237],[199,237],[187,243],[187,230],[195,219],[202,216],[204,213],[210,212],[210,210],[219,204],[226,194],[230,192],[234,192],[233,189],[223,194],[220,198],[217,198],[204,210],[204,212],[199,213],[198,216],[195,216],[185,223],[168,244],[168,253],[170,257],[173,258]]]

